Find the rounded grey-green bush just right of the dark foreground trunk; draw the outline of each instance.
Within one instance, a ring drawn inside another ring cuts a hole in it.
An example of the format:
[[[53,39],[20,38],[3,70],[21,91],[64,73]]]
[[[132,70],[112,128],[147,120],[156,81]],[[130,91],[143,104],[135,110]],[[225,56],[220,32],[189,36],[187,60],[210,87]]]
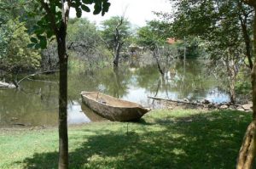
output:
[[[95,67],[104,65],[112,56],[102,42],[100,31],[90,20],[72,19],[67,31],[67,48],[74,62],[80,62],[80,65],[86,68],[89,67],[88,65]]]

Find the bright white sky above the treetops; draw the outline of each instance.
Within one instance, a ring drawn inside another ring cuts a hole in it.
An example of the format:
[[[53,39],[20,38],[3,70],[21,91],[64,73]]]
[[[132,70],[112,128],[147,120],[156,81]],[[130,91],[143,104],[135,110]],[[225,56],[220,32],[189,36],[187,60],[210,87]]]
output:
[[[111,3],[108,13],[104,16],[101,14],[93,15],[83,12],[82,17],[86,17],[91,21],[100,25],[102,20],[108,20],[111,16],[123,15],[127,18],[132,25],[143,26],[146,25],[146,20],[154,20],[157,17],[152,13],[155,12],[170,12],[172,6],[169,0],[108,0]],[[74,9],[71,10],[70,16],[76,16]]]

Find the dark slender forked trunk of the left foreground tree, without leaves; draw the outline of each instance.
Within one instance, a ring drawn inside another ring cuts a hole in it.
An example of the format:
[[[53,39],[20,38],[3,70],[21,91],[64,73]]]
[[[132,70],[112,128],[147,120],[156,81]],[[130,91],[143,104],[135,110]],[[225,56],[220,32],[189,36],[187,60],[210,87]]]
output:
[[[67,53],[66,36],[67,22],[69,16],[70,1],[61,0],[61,23],[56,25],[55,14],[51,11],[49,4],[39,0],[50,20],[51,29],[54,31],[58,44],[58,56],[60,63],[59,82],[59,169],[68,168],[68,138],[67,138]]]

